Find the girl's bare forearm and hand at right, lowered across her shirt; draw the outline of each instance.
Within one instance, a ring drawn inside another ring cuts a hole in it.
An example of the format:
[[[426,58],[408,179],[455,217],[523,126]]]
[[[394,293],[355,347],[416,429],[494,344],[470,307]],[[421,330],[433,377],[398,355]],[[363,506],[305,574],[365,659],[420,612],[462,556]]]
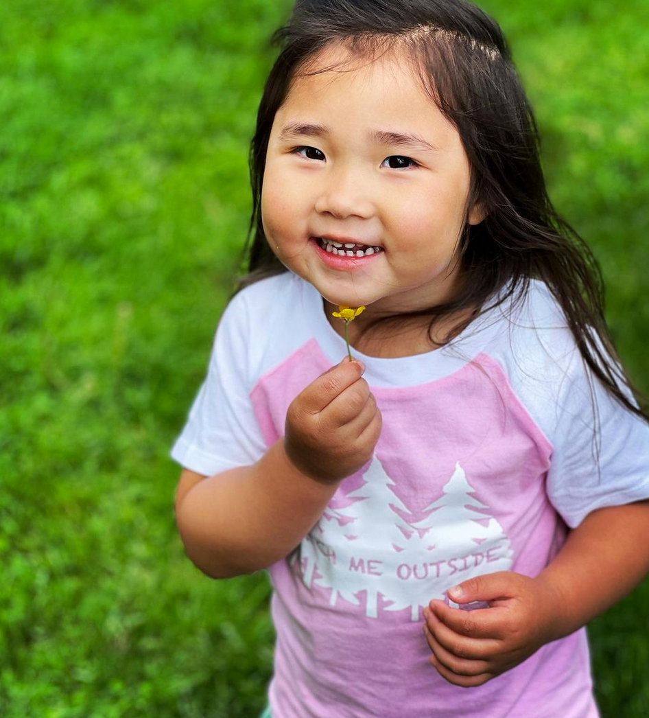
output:
[[[431,663],[453,684],[479,686],[581,628],[648,572],[649,501],[594,511],[538,577],[498,572],[449,590],[458,603],[487,601],[489,608],[467,612],[431,601],[424,610]]]

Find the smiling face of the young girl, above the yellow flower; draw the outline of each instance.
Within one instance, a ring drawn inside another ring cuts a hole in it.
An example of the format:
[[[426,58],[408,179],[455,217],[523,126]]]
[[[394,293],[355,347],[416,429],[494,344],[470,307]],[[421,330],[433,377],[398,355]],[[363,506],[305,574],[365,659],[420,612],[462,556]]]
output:
[[[457,130],[406,57],[328,47],[309,66],[319,69],[294,80],[271,130],[261,197],[271,248],[332,304],[391,314],[449,299],[470,185]]]

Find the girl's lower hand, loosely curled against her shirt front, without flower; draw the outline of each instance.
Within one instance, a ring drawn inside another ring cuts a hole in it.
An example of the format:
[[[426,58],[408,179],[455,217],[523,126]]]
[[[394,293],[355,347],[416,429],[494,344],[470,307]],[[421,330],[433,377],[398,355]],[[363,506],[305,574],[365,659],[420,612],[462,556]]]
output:
[[[464,610],[435,600],[424,608],[430,661],[456,686],[481,686],[559,638],[561,601],[541,578],[500,571],[469,579],[449,589],[448,596],[460,604],[489,603],[488,608]]]

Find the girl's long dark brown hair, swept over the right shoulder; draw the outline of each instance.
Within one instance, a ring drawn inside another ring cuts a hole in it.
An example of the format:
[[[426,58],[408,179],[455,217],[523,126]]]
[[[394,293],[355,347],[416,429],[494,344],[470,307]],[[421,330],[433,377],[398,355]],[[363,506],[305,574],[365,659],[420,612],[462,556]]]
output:
[[[413,60],[422,88],[457,129],[471,168],[467,208],[479,203],[485,215],[480,224],[465,223],[459,238],[464,281],[456,296],[405,317],[429,317],[432,336],[440,317],[477,307],[449,333],[450,340],[477,314],[508,299],[519,301],[529,281],[541,279],[594,376],[617,401],[647,419],[630,398],[638,394],[620,370],[604,320],[597,261],[549,200],[536,121],[498,24],[464,0],[298,0],[274,42],[281,50],[251,144],[253,211],[248,275],[240,288],[286,271],[263,233],[261,189],[271,127],[292,80],[308,74],[309,60],[332,42],[369,57],[397,47]],[[489,304],[493,297],[498,299]]]

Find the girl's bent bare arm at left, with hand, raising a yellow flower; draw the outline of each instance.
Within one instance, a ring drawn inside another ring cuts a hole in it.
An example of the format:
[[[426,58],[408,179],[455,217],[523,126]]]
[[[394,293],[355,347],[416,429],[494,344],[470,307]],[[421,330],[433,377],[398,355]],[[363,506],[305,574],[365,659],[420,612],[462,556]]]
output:
[[[212,477],[182,472],[178,528],[203,572],[250,573],[289,554],[340,481],[370,459],[380,412],[362,372],[343,362],[310,384],[289,408],[285,437],[255,464]]]

